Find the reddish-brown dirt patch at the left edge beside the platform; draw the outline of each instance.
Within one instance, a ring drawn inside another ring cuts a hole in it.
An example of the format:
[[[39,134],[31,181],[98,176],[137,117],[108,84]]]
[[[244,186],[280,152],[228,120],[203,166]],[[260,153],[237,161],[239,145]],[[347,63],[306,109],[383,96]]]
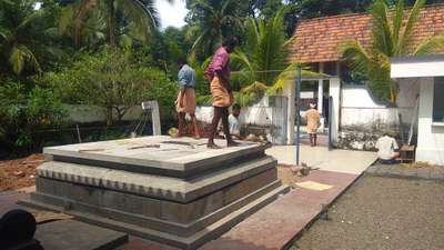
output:
[[[43,154],[0,161],[0,192],[36,184],[36,168],[43,162]]]

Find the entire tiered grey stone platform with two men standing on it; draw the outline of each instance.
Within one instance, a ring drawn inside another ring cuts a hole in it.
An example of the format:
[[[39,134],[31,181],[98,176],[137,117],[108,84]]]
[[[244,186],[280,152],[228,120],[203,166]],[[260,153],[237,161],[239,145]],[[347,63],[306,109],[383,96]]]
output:
[[[289,191],[264,150],[169,137],[46,148],[37,191],[22,203],[195,249]]]

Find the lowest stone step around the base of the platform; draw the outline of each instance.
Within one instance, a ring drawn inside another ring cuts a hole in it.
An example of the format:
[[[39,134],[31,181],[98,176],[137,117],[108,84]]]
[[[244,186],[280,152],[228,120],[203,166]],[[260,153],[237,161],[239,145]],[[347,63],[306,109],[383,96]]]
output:
[[[22,200],[19,203],[37,208],[44,209],[51,211],[63,211],[68,214],[74,216],[75,219],[98,224],[100,227],[110,228],[113,230],[127,232],[133,236],[142,237],[144,239],[158,241],[161,243],[174,246],[181,249],[196,249],[203,243],[218,238],[223,234],[225,231],[230,230],[236,223],[241,222],[243,219],[254,213],[259,209],[269,204],[273,200],[275,200],[280,194],[290,191],[289,187],[283,187],[281,183],[274,182],[268,187],[258,190],[233,203],[224,207],[223,209],[218,210],[216,212],[209,214],[205,218],[202,218],[199,221],[195,221],[193,224],[182,226],[180,231],[179,224],[173,224],[167,221],[163,221],[165,226],[163,227],[163,231],[154,230],[150,228],[154,224],[153,220],[142,220],[147,218],[137,217],[137,214],[132,214],[134,218],[131,222],[122,222],[115,220],[118,217],[118,211],[114,213],[110,213],[109,217],[95,216],[78,210],[64,210],[60,206],[51,206],[50,203],[63,203],[64,201],[50,201],[49,199],[58,199],[56,197],[41,196],[36,193],[33,196],[39,197],[38,199],[27,199]],[[82,204],[88,206],[88,204]],[[75,208],[75,204],[72,207]],[[79,206],[77,208],[80,208]],[[121,214],[120,214],[121,216]],[[119,219],[121,219],[120,217]],[[140,221],[141,223],[134,224],[134,221]],[[168,224],[168,226],[167,226]],[[205,226],[206,224],[206,226]],[[196,229],[201,228],[199,231]],[[174,233],[182,232],[188,236],[178,236]]]

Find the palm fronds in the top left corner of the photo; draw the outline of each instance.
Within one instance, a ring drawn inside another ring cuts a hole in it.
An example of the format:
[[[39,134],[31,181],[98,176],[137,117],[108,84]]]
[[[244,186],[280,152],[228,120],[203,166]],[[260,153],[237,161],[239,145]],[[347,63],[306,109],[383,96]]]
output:
[[[37,0],[0,1],[0,57],[3,72],[21,74],[24,69],[41,72],[41,60],[61,50],[51,43],[57,29],[51,22],[54,9],[36,10]]]

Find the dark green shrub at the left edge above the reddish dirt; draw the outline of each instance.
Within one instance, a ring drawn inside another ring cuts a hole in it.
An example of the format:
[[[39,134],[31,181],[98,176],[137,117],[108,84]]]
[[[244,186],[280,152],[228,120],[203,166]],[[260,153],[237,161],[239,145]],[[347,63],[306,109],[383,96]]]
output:
[[[41,130],[59,127],[65,111],[52,90],[29,90],[9,79],[0,84],[0,146],[4,151],[24,153],[41,147]]]

